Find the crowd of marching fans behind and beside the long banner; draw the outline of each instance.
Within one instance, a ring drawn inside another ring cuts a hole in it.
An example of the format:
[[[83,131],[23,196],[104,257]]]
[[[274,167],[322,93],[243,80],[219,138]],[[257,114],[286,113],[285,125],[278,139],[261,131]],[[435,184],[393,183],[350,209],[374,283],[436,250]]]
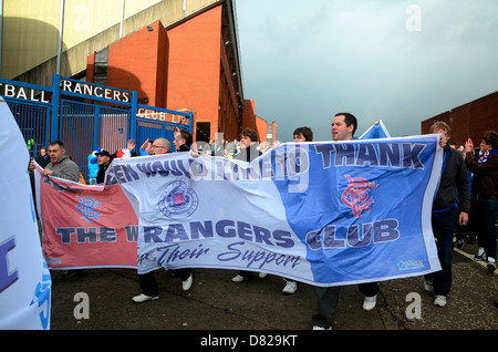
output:
[[[334,116],[332,123],[332,139],[353,139],[356,130],[356,118],[347,113]],[[456,235],[457,247],[461,248],[465,240],[478,242],[476,260],[485,260],[489,271],[496,270],[497,232],[496,219],[498,213],[498,133],[487,131],[483,135],[479,147],[475,147],[469,138],[465,144],[450,142],[450,128],[444,122],[437,122],[430,133],[440,134],[440,146],[444,148],[444,163],[440,183],[435,195],[432,214],[432,225],[437,239],[438,258],[442,270],[425,277],[424,288],[434,291],[434,304],[446,306],[446,296],[452,286],[452,250]],[[313,134],[309,127],[294,131],[294,142],[312,142]],[[176,152],[189,152],[193,156],[222,156],[245,162],[251,162],[270,148],[278,147],[277,143],[260,142],[256,131],[245,128],[240,139],[217,139],[211,143],[193,142],[190,133],[176,130],[173,145]],[[111,154],[98,149],[89,156],[89,165],[98,165],[91,170],[91,184],[104,182],[105,172],[115,157],[158,155],[172,152],[172,142],[166,138],[145,141],[135,149],[135,142],[128,141],[125,149]],[[37,162],[44,167],[45,176],[56,176],[77,182],[81,178],[80,168],[66,155],[62,142],[52,142],[48,148],[48,156],[43,152]],[[33,169],[30,164],[30,169]],[[240,271],[232,278],[234,282],[251,280],[255,273]],[[191,269],[180,275],[183,289],[191,286]],[[260,275],[260,277],[262,277]],[[284,293],[293,293],[298,282],[287,280]],[[367,287],[366,287],[367,286]],[[153,276],[141,278],[143,292],[133,298],[135,302],[158,299],[157,286]],[[339,287],[317,288],[318,310],[313,314],[317,329],[330,329],[335,314],[339,299]],[[359,286],[365,296],[364,310],[375,307],[378,287],[376,282]],[[498,307],[498,306],[497,306]]]

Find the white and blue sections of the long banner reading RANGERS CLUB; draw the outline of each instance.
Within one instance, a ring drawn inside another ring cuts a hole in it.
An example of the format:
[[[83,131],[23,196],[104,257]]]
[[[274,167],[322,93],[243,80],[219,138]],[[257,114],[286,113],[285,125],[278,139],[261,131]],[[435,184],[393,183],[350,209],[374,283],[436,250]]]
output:
[[[439,270],[436,135],[284,144],[252,163],[188,153],[116,159],[138,219],[141,273],[264,271],[335,286]]]

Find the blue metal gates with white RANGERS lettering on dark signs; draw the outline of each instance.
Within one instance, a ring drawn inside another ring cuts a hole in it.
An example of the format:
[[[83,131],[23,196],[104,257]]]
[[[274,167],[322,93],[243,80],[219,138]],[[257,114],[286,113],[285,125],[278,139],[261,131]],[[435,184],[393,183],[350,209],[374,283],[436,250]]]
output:
[[[69,156],[89,176],[89,155],[97,147],[111,154],[136,148],[147,139],[165,137],[173,142],[175,127],[191,133],[190,112],[139,105],[136,91],[124,91],[53,75],[52,87],[0,79],[0,95],[9,104],[24,136],[30,156],[35,157],[51,141],[62,141]],[[178,123],[137,115],[137,110],[181,117]],[[173,143],[172,143],[173,145]]]

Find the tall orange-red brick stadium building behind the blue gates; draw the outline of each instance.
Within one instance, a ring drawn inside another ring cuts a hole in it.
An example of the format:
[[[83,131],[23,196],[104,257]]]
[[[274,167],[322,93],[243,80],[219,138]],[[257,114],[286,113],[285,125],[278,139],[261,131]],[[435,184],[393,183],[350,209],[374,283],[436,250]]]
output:
[[[276,141],[276,125],[243,100],[234,18],[226,2],[165,28],[155,21],[87,56],[86,81],[137,91],[142,104],[194,111],[194,136],[222,133],[238,139],[245,127]],[[268,133],[270,131],[270,134]]]

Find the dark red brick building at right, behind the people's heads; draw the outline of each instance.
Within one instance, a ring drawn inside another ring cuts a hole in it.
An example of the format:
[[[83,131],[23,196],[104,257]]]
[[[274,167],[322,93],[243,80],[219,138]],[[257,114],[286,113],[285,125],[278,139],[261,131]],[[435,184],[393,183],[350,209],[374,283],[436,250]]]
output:
[[[498,131],[498,92],[423,121],[422,134],[428,133],[436,121],[448,124],[453,142],[465,144],[470,137],[474,145],[478,146],[486,131]]]

